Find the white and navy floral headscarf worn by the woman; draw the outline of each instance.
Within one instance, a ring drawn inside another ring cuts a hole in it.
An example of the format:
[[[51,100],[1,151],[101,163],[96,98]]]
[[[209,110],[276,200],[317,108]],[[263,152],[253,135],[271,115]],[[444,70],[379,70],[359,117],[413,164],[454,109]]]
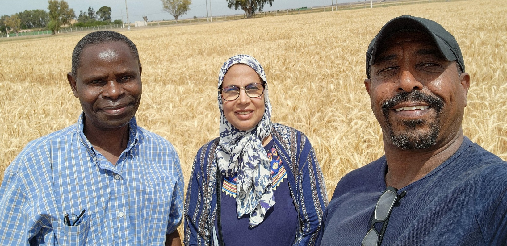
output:
[[[224,82],[228,69],[237,63],[251,67],[266,83],[264,69],[259,62],[249,55],[236,55],[227,60],[219,75],[219,88]],[[275,204],[272,189],[271,164],[262,140],[271,133],[271,103],[268,98],[268,87],[264,89],[264,115],[252,129],[242,131],[234,127],[224,115],[222,96],[218,94],[220,109],[220,140],[216,147],[216,163],[222,175],[236,177],[236,210],[240,218],[250,215],[250,227],[259,225],[264,220],[267,210]],[[220,196],[221,191],[217,191]]]

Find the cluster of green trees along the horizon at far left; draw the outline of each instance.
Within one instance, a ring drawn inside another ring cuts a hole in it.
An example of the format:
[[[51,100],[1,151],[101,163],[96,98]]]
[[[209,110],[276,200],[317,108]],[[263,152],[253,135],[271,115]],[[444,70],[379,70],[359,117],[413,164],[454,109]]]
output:
[[[38,29],[51,30],[55,34],[63,25],[70,25],[74,19],[77,20],[71,25],[74,27],[122,24],[121,20],[112,21],[111,8],[107,6],[101,7],[97,12],[89,6],[88,11],[80,11],[77,17],[66,1],[49,0],[48,10],[25,10],[10,16],[3,15],[0,17],[0,32],[17,35],[22,29]]]

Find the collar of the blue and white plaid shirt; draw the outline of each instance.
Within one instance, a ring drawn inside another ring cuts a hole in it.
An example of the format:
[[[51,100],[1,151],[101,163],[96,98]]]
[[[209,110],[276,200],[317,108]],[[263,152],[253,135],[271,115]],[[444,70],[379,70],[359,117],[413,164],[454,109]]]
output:
[[[81,113],[81,115],[78,118],[78,122],[76,124],[78,137],[80,142],[86,147],[86,150],[88,151],[88,154],[93,157],[93,165],[97,164],[97,157],[95,150],[88,141],[88,138],[86,138],[85,133],[83,132],[85,124],[85,113]],[[137,132],[137,121],[135,120],[135,116],[132,117],[129,121],[129,137],[128,137],[128,143],[127,148],[123,152],[130,152],[130,150],[139,142],[139,135]],[[123,153],[122,153],[123,155]]]

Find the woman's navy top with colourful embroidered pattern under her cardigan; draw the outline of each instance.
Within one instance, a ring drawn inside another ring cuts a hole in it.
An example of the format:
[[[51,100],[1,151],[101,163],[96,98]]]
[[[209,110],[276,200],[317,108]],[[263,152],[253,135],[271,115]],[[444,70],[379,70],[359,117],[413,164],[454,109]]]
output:
[[[298,212],[288,187],[287,173],[273,140],[264,147],[271,161],[271,177],[276,204],[268,209],[264,221],[249,228],[249,216],[238,219],[236,177],[224,177],[222,186],[222,235],[224,245],[293,245],[299,227]],[[216,225],[216,220],[215,220]]]

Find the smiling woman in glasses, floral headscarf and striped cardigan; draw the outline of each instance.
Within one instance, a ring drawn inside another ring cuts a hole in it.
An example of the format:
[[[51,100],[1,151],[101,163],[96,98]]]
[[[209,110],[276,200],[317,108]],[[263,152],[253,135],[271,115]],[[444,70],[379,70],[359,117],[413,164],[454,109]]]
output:
[[[229,58],[218,89],[220,136],[194,159],[185,244],[314,245],[328,199],[308,138],[271,122],[255,58]]]

